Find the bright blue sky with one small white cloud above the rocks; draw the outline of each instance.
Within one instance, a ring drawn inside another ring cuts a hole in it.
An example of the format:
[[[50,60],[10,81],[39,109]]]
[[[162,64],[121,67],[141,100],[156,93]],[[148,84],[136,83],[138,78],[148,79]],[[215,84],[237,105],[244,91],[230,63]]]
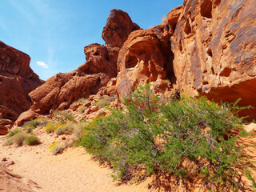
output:
[[[30,67],[46,80],[86,62],[83,47],[102,40],[112,9],[126,11],[143,29],[183,0],[1,0],[0,40],[30,55]]]

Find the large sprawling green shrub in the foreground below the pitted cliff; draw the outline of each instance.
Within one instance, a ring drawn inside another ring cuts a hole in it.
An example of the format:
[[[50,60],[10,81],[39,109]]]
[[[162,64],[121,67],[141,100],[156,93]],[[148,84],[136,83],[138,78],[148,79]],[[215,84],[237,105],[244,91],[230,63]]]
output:
[[[243,173],[255,184],[246,146],[237,142],[243,119],[236,116],[238,102],[218,105],[184,95],[162,101],[148,84],[124,101],[126,110],[95,119],[79,140],[90,154],[113,163],[115,177],[129,180],[145,169],[175,183],[201,181],[205,190],[236,191],[250,188],[237,182]]]

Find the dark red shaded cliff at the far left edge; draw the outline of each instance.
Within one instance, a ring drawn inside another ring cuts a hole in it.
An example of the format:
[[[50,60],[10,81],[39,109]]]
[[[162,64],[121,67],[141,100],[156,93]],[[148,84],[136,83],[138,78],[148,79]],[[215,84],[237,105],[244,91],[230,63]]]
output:
[[[28,94],[42,83],[30,68],[30,56],[0,41],[0,134],[30,108]]]

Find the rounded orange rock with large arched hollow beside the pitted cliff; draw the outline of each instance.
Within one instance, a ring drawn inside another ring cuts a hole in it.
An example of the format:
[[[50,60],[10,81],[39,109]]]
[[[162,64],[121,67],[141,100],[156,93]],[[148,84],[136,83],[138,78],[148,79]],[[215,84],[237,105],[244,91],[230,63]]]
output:
[[[118,96],[130,93],[141,82],[170,79],[174,54],[170,50],[170,28],[167,24],[132,32],[118,54]]]

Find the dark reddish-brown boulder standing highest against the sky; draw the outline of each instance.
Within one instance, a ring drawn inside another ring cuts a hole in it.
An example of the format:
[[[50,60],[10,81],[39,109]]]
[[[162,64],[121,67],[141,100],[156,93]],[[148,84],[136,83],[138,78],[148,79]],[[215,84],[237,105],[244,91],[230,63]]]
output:
[[[110,11],[110,15],[106,20],[106,26],[104,26],[102,31],[102,38],[106,42],[106,46],[121,48],[129,34],[139,29],[141,28],[132,22],[126,12],[114,9]]]

